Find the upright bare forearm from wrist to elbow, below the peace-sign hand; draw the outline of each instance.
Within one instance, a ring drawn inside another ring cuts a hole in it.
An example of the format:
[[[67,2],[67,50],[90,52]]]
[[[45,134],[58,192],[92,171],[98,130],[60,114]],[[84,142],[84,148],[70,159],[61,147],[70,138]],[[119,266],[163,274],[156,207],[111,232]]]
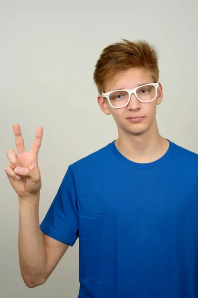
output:
[[[46,250],[39,224],[39,195],[19,198],[19,264],[28,287],[45,282]]]

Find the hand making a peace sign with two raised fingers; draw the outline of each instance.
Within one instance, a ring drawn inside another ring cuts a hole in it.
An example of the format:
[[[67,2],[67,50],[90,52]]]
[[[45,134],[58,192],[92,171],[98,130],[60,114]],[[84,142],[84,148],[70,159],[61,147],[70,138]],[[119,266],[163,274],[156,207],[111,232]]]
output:
[[[24,140],[18,123],[13,124],[17,155],[13,149],[7,150],[10,165],[5,167],[5,172],[13,189],[22,199],[30,195],[39,194],[41,189],[41,174],[38,166],[38,153],[41,147],[43,128],[36,132],[32,148],[25,151]]]

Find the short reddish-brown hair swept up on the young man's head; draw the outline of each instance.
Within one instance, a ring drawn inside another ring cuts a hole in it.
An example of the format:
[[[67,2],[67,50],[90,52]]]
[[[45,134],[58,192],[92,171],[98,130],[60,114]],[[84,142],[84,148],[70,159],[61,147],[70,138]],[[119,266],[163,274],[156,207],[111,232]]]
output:
[[[124,42],[113,43],[104,48],[97,61],[94,82],[99,94],[105,92],[104,89],[109,80],[129,68],[148,69],[154,82],[159,79],[156,48],[146,40],[129,41],[123,38],[122,40]]]

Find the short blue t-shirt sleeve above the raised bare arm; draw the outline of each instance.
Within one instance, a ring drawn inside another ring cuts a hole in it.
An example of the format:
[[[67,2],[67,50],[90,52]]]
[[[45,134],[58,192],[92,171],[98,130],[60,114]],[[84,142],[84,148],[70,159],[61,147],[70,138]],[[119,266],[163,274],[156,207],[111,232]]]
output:
[[[70,166],[40,228],[50,237],[71,246],[79,237],[75,180]]]

